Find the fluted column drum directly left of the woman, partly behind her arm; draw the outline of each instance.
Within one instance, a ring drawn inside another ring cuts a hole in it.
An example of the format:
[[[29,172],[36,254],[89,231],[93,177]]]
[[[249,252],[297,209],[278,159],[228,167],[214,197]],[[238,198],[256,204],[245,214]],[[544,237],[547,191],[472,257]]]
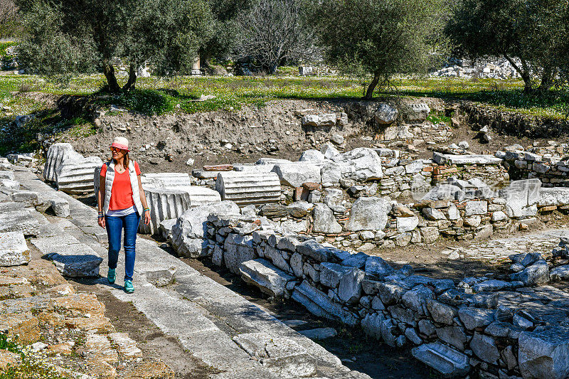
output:
[[[86,193],[95,191],[93,172],[102,166],[98,156],[67,156],[55,171],[58,190],[65,193]]]

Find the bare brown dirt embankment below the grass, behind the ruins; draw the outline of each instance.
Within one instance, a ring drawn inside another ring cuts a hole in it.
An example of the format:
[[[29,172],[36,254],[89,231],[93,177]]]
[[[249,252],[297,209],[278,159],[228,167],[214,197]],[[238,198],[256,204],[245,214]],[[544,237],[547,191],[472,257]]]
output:
[[[248,105],[234,111],[196,114],[179,111],[161,116],[100,111],[84,100],[82,97],[66,97],[58,100],[58,105],[65,117],[82,114],[87,107],[88,112],[96,115],[95,128],[70,129],[51,138],[50,142],[70,142],[85,156],[96,155],[107,159],[107,146],[115,136],[124,135],[132,144],[132,156],[145,171],[188,171],[204,165],[251,163],[263,156],[296,161],[302,151],[319,149],[331,140],[339,141],[333,138],[336,135],[344,139],[344,143],[337,146],[340,150],[385,146],[385,142],[382,144],[376,140],[383,130],[374,122],[374,112],[381,102],[385,102],[380,99],[275,100],[268,102],[265,107]],[[433,98],[403,101],[427,102],[435,111],[431,114],[437,118],[442,117],[445,110],[448,113],[449,109],[456,108],[453,104]],[[492,113],[495,117],[490,117],[491,114],[484,111],[485,117],[477,117],[472,107],[472,103],[458,107],[460,126],[452,129],[452,137],[447,142],[441,146],[423,144],[416,149],[411,146],[414,155],[417,158],[430,158],[432,149],[461,141],[467,141],[469,151],[474,154],[493,154],[511,144],[547,146],[547,137],[551,138],[535,133],[525,135],[519,130],[514,133],[502,125],[508,119],[506,116]],[[482,106],[480,109],[485,110]],[[336,114],[337,122],[321,127],[303,125],[302,117],[307,114]],[[500,122],[494,121],[496,117]],[[496,127],[496,130],[491,130],[489,143],[481,142],[478,137],[481,122]],[[387,145],[405,150],[413,142],[413,139],[409,139]],[[193,164],[186,165],[188,159],[193,159]]]

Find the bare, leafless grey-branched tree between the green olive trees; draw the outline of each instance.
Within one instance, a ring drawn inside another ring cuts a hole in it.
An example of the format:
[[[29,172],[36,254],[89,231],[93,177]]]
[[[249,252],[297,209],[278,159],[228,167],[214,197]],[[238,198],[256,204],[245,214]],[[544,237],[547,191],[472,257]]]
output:
[[[305,0],[255,0],[237,19],[235,53],[268,73],[285,61],[310,58],[317,50],[307,25]]]

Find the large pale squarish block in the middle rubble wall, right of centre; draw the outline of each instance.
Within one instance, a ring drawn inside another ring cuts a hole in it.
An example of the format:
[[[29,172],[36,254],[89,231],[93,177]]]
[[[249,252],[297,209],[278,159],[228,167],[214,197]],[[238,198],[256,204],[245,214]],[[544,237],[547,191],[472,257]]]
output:
[[[388,201],[383,198],[358,198],[353,203],[346,230],[383,230],[387,225]]]

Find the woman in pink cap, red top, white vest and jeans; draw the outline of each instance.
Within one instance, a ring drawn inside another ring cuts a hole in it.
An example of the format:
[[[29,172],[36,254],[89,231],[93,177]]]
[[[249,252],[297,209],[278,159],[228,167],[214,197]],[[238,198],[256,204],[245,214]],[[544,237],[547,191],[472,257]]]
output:
[[[124,292],[132,294],[134,274],[134,247],[140,215],[144,223],[150,222],[150,210],[140,182],[140,168],[129,159],[129,142],[115,137],[110,146],[111,158],[102,165],[97,203],[99,225],[107,228],[109,237],[109,283],[115,283],[115,270],[119,260],[120,238],[124,229]]]

